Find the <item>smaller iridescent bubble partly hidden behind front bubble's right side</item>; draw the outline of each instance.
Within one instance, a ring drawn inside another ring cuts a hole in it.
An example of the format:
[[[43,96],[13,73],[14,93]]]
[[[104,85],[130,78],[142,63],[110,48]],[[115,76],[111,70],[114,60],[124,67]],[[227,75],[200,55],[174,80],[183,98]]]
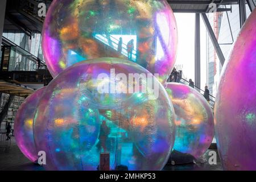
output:
[[[213,111],[207,100],[188,85],[166,84],[176,114],[174,150],[198,159],[212,143]]]

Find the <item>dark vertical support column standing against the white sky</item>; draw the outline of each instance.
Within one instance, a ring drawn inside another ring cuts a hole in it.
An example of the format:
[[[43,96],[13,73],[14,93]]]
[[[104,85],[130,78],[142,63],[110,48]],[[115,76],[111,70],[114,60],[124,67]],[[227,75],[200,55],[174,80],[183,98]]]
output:
[[[201,87],[201,47],[200,47],[200,14],[196,13],[195,22],[195,86]],[[200,92],[200,90],[199,90]]]

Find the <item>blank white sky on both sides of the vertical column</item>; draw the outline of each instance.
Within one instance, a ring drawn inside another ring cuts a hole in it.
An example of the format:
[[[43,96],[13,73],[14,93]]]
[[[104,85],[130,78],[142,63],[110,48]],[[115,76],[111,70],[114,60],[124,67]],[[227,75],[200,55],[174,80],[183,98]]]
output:
[[[178,52],[176,65],[183,65],[183,77],[195,80],[195,14],[175,13],[178,30]],[[201,19],[201,18],[200,18]],[[206,29],[200,20],[201,37],[201,88],[207,83]]]

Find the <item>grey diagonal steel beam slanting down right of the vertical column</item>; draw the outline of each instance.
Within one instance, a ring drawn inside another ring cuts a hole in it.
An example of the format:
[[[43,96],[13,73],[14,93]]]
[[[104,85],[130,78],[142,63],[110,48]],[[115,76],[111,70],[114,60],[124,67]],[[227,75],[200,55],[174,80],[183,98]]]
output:
[[[221,51],[220,45],[218,44],[218,40],[216,39],[216,36],[214,35],[214,32],[212,30],[212,26],[210,26],[210,22],[207,18],[207,15],[205,13],[201,14],[202,19],[204,20],[205,27],[208,31],[208,34],[210,36],[210,40],[212,40],[213,47],[218,55],[218,59],[220,60],[221,65],[223,66],[225,62],[225,57]]]

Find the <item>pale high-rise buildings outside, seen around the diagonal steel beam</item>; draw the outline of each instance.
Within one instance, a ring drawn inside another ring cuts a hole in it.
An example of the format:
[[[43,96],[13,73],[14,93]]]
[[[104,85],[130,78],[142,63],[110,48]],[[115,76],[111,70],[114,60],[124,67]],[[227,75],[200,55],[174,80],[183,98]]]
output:
[[[246,5],[246,15],[250,15],[250,9]],[[213,27],[214,34],[218,39],[220,48],[225,59],[228,59],[229,53],[240,32],[240,15],[238,5],[232,5],[232,12],[208,14],[209,22]],[[216,22],[216,20],[218,22]],[[216,29],[216,24],[218,29]],[[222,66],[213,44],[207,33],[207,84],[210,94],[214,97],[217,94],[218,81],[220,80]],[[214,66],[213,66],[214,64]],[[214,68],[213,68],[214,67]],[[214,71],[213,71],[214,70]],[[214,76],[213,76],[214,75]]]

